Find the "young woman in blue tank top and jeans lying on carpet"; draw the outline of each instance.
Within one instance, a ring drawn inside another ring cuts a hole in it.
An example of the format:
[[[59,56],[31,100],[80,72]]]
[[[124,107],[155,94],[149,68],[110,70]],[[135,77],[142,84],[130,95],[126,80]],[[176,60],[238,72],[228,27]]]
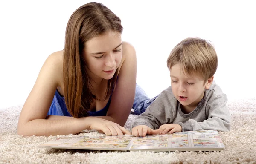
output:
[[[121,20],[101,3],[79,7],[67,23],[64,49],[45,61],[20,113],[17,133],[66,135],[96,129],[131,134],[131,108],[150,104],[137,86],[136,53],[122,42]],[[133,106],[134,103],[134,106]]]

